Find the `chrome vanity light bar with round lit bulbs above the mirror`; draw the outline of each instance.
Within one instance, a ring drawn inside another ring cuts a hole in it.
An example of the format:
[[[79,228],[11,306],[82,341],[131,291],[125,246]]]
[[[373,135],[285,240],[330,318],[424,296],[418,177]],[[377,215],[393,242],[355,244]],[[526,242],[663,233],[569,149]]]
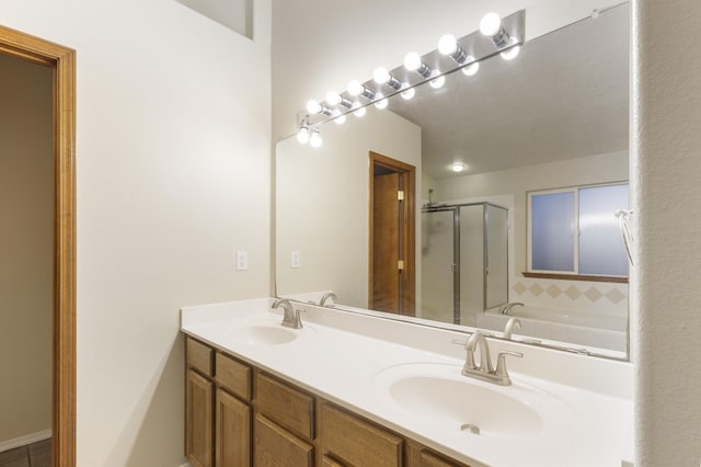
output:
[[[300,134],[306,133],[298,135],[298,138],[309,141],[315,135],[314,143],[320,141],[320,125],[332,121],[341,123],[348,114],[360,117],[369,105],[384,109],[389,98],[397,94],[409,100],[414,95],[415,88],[426,82],[432,88],[440,88],[446,76],[457,70],[473,76],[480,61],[497,54],[504,59],[516,57],[524,44],[525,16],[524,10],[506,18],[487,13],[480,22],[480,31],[460,38],[445,35],[438,42],[438,49],[423,56],[410,53],[404,66],[392,70],[379,67],[375,70],[374,79],[366,82],[353,80],[342,93],[330,91],[323,103],[309,101],[307,112],[298,114]]]

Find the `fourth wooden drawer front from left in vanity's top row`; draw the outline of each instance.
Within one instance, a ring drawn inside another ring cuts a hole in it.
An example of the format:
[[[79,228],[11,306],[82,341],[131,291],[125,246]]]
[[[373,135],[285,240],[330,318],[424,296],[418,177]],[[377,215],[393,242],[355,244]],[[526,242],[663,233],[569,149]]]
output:
[[[403,440],[329,403],[321,406],[321,446],[355,467],[401,466]]]

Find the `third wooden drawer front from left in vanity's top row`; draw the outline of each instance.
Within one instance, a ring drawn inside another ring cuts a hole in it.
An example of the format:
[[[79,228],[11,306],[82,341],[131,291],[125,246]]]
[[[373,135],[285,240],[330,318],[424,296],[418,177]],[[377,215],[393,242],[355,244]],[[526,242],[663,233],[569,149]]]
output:
[[[314,398],[263,373],[256,373],[256,409],[294,433],[314,438]]]

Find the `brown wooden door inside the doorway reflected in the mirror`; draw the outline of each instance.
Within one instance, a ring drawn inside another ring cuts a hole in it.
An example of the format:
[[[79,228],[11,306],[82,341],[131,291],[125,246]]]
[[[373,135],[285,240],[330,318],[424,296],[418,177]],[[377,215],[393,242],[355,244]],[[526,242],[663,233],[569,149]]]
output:
[[[402,201],[400,174],[374,178],[372,209],[372,309],[401,311],[400,225]],[[403,269],[403,265],[401,266]]]

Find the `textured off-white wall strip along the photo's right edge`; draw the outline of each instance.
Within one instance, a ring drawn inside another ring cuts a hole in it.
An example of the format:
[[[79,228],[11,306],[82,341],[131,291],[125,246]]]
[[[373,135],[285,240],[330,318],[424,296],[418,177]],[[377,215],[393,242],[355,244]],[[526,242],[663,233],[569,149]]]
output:
[[[641,0],[633,14],[636,465],[698,466],[701,2]]]

